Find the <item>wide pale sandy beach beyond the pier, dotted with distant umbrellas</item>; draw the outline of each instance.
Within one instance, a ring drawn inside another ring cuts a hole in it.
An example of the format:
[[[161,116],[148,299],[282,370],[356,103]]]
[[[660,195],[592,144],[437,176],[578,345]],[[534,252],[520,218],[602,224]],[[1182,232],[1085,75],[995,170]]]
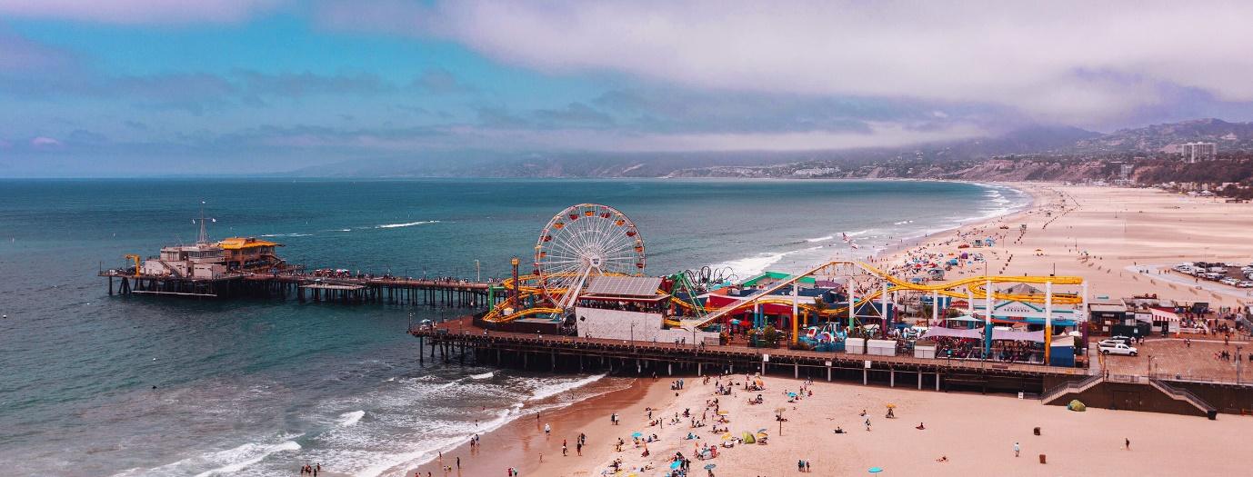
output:
[[[959,252],[964,240],[1006,237],[995,247],[965,249],[984,253],[987,272],[1005,275],[1080,275],[1091,297],[1123,298],[1157,293],[1162,299],[1237,305],[1253,302],[1253,289],[1198,282],[1192,277],[1158,274],[1182,262],[1253,262],[1253,204],[1228,204],[1158,189],[1014,183],[1034,202],[1024,210],[964,225],[923,239],[895,244],[880,263],[898,263],[917,250]],[[1026,232],[1019,227],[1026,224]],[[1009,225],[1009,229],[1000,229]],[[1036,252],[1039,250],[1039,252]],[[1136,268],[1150,273],[1136,273]],[[984,274],[984,264],[957,269],[947,279]],[[1055,270],[1055,272],[1054,272]],[[1203,284],[1203,289],[1197,289]]]

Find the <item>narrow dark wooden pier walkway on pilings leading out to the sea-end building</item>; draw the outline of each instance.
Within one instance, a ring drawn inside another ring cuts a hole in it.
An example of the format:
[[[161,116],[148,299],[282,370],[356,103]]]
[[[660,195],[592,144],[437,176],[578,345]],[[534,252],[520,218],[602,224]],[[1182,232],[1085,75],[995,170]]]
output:
[[[101,270],[109,294],[172,295],[200,299],[296,298],[301,302],[424,304],[489,308],[501,295],[491,282],[401,277],[315,277],[303,273],[238,273],[214,278],[145,275]]]

